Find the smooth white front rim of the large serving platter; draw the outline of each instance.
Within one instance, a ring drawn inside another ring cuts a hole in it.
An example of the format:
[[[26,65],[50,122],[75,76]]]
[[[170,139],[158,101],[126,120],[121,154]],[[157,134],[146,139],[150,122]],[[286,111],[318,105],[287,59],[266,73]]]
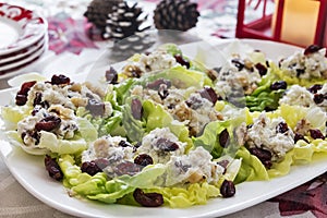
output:
[[[246,40],[242,40],[245,41]],[[250,40],[249,40],[250,41]],[[263,41],[257,40],[251,40],[250,43],[255,43],[256,45],[265,44]],[[268,44],[268,43],[267,43]],[[274,46],[278,45],[276,43],[272,43]],[[288,46],[288,45],[286,45]],[[218,46],[219,47],[219,46]],[[5,95],[10,96],[9,90],[1,90],[0,97],[3,99]],[[3,102],[2,102],[3,104]],[[0,147],[0,155],[2,156],[5,165],[8,166],[9,170],[12,172],[12,174],[16,178],[16,180],[28,191],[31,192],[35,197],[39,198],[44,203],[48,204],[49,206],[57,208],[61,211],[68,213],[73,216],[82,216],[82,217],[117,217],[118,214],[121,215],[121,217],[217,217],[217,216],[223,216],[231,213],[239,211],[241,209],[247,208],[250,206],[253,206],[255,204],[258,204],[261,202],[264,202],[268,198],[271,198],[278,194],[281,194],[286,191],[289,191],[298,185],[301,185],[311,179],[324,173],[327,170],[326,160],[317,160],[314,162],[311,162],[310,165],[305,166],[294,166],[292,167],[292,170],[290,174],[280,177],[270,181],[258,181],[258,182],[245,182],[242,184],[237,185],[237,195],[231,198],[217,198],[209,201],[207,205],[202,206],[194,206],[186,209],[170,209],[170,208],[138,208],[138,207],[130,207],[130,206],[123,206],[123,205],[101,205],[101,204],[92,204],[92,203],[85,203],[84,201],[76,199],[76,198],[70,198],[69,195],[65,193],[63,186],[59,183],[51,182],[49,178],[47,178],[46,172],[39,172],[41,174],[40,178],[35,178],[38,182],[49,182],[49,186],[55,185],[55,190],[59,191],[59,198],[62,197],[64,203],[61,203],[60,201],[57,201],[57,198],[51,198],[50,195],[46,195],[43,193],[44,189],[39,186],[34,186],[35,181],[28,181],[26,180],[26,174],[24,173],[24,170],[16,169],[13,164],[16,162],[16,160],[21,160],[21,165],[26,165],[26,160],[31,159],[32,157],[29,155],[26,155],[22,153],[22,150],[19,148],[13,148],[12,145],[10,145],[8,142],[1,140],[1,143],[3,143],[3,146]],[[16,150],[14,150],[16,149]],[[20,152],[21,150],[21,152]],[[17,158],[20,157],[20,158]],[[23,159],[23,158],[24,159]],[[27,159],[26,159],[27,158]],[[33,166],[32,166],[33,167]],[[40,166],[34,166],[34,170],[38,170],[38,167]],[[27,178],[28,179],[28,178]],[[31,178],[29,178],[31,179]],[[267,191],[265,194],[259,194],[258,191],[259,187],[263,189],[263,191]],[[61,191],[60,191],[61,190]],[[251,190],[251,191],[249,191]],[[53,194],[53,193],[52,193]],[[243,195],[241,195],[243,194]],[[238,201],[235,202],[235,199]],[[77,206],[77,207],[76,207]],[[86,209],[85,209],[86,206]],[[215,206],[215,207],[214,207]],[[217,208],[216,206],[225,206],[225,208],[218,208],[210,210],[208,207]],[[100,210],[98,210],[100,209]],[[119,210],[119,213],[117,213]]]

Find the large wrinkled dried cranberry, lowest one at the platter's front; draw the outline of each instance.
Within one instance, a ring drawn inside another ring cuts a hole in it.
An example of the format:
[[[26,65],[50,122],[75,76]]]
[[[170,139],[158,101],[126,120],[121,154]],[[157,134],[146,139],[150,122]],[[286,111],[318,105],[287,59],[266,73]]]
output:
[[[164,197],[158,193],[144,193],[141,189],[133,192],[134,199],[144,207],[159,207],[164,204]]]

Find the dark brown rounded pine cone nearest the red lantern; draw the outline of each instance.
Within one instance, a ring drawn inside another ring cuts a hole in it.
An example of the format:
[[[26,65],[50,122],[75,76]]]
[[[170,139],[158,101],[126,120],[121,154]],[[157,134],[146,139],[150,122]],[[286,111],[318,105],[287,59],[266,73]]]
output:
[[[185,32],[196,25],[198,16],[197,3],[190,0],[162,0],[154,11],[157,29]]]

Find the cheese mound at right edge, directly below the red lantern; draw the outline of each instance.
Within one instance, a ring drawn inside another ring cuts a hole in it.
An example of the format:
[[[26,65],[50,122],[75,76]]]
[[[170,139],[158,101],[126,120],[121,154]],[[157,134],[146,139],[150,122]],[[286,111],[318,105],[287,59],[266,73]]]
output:
[[[279,64],[283,73],[300,78],[327,78],[326,48],[311,55],[295,52]]]

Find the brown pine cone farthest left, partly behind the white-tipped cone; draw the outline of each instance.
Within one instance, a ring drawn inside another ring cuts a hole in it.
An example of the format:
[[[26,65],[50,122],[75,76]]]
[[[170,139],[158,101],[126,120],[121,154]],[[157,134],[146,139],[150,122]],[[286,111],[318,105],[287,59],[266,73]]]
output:
[[[104,34],[106,32],[108,14],[112,13],[113,8],[122,0],[93,0],[84,16],[89,23],[93,23]]]

